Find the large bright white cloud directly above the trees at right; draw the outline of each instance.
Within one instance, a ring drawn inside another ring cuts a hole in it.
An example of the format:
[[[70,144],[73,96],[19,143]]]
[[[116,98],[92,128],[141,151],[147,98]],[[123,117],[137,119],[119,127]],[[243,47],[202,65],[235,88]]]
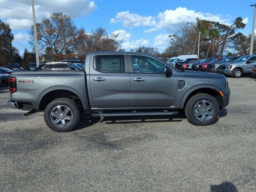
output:
[[[178,7],[175,10],[160,12],[157,16],[160,21],[156,25],[156,28],[163,28],[170,32],[187,22],[195,22],[197,17],[203,20],[220,22],[222,24],[228,24],[229,21],[228,19],[223,19],[221,14],[213,15],[211,13],[195,12],[185,7]]]

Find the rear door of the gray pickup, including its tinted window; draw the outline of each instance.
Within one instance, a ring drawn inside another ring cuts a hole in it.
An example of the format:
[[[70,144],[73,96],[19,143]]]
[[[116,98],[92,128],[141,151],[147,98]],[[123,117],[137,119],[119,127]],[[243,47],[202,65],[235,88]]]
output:
[[[127,55],[93,54],[90,57],[91,108],[129,106],[130,75]]]

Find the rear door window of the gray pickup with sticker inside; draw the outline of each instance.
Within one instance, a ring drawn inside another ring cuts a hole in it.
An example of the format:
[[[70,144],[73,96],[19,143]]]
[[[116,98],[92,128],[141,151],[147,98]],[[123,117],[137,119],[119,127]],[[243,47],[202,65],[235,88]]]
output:
[[[97,55],[94,59],[94,69],[104,73],[124,73],[124,56]]]

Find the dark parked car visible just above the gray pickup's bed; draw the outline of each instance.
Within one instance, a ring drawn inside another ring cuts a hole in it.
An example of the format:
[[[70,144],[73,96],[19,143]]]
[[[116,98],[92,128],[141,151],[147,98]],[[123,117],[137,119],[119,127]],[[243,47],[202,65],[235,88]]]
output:
[[[36,70],[84,70],[77,64],[69,62],[50,62],[40,64]]]

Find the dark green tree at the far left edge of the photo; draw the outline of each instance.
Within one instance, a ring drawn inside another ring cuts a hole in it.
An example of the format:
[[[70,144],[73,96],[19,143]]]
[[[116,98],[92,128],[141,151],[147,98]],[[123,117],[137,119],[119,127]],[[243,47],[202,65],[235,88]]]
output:
[[[9,24],[0,20],[0,64],[6,65],[12,59],[12,40],[14,36]]]

